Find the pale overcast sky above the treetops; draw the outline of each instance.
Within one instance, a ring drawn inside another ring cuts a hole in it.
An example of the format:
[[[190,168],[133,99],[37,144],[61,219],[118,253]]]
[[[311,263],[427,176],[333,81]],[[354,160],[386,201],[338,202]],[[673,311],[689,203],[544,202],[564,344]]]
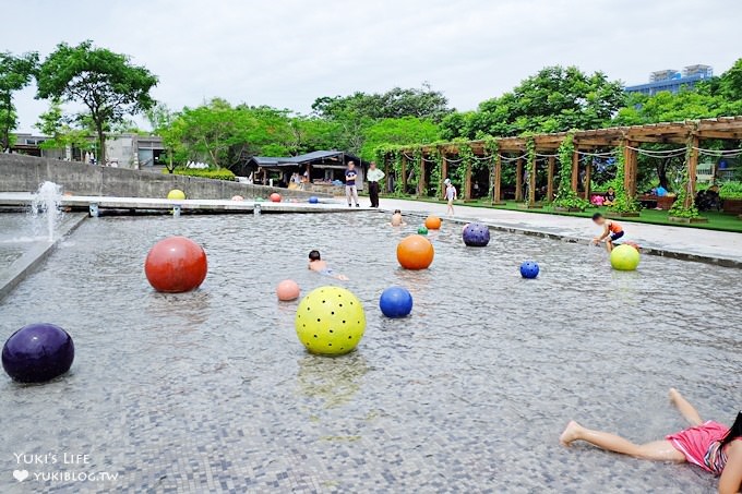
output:
[[[93,39],[159,76],[171,108],[219,96],[309,112],[319,96],[419,87],[474,109],[549,64],[629,84],[742,58],[741,0],[24,0],[0,50]],[[20,131],[47,104],[17,93]]]

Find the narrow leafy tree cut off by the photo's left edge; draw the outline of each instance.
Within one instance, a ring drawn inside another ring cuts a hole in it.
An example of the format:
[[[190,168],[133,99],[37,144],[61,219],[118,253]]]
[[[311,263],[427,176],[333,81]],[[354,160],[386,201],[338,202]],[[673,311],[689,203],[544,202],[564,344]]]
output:
[[[10,148],[11,131],[17,128],[17,113],[13,105],[13,93],[31,83],[38,67],[38,53],[13,56],[0,53],[0,152]]]

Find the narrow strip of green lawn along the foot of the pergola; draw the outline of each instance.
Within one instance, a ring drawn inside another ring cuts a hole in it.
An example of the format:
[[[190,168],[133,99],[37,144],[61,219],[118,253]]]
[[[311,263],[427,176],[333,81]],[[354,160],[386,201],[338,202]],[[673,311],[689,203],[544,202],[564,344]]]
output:
[[[432,198],[411,198],[411,197],[392,197],[391,198],[403,198],[406,201],[423,201],[423,202],[429,202],[429,203],[438,203],[438,204],[444,204],[442,201],[434,201]],[[483,201],[475,201],[475,202],[468,202],[464,203],[463,201],[457,201],[457,205],[462,206],[471,206],[471,207],[490,207],[493,209],[507,209],[507,210],[519,210],[524,213],[536,213],[536,214],[544,214],[544,215],[561,215],[561,216],[578,216],[583,218],[589,218],[595,214],[596,212],[601,212],[606,215],[609,215],[610,213],[608,212],[608,208],[606,207],[588,207],[585,209],[585,212],[582,213],[555,213],[551,206],[543,206],[542,208],[537,208],[537,209],[525,209],[522,207],[523,203],[515,203],[513,201],[507,202],[505,205],[502,206],[492,206],[488,202]],[[701,224],[677,224],[672,222],[668,219],[668,212],[666,210],[657,210],[657,209],[642,209],[642,214],[639,217],[636,218],[623,218],[624,221],[634,221],[634,222],[646,222],[646,224],[651,224],[651,225],[667,225],[671,227],[682,227],[682,228],[702,228],[706,230],[720,230],[720,231],[733,231],[738,233],[742,233],[742,219],[740,219],[735,215],[726,215],[723,213],[716,213],[716,212],[705,212],[702,213],[702,216],[704,218],[708,219],[708,222],[701,222]]]

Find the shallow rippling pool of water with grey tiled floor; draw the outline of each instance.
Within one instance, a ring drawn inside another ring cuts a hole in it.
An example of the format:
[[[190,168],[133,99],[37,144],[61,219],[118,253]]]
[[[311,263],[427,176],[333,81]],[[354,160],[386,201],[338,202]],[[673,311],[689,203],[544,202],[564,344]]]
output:
[[[564,448],[567,420],[633,441],[684,426],[667,390],[730,422],[742,402],[740,272],[644,256],[612,272],[601,249],[492,232],[466,248],[460,225],[430,236],[424,272],[397,267],[402,230],[381,214],[94,218],[0,305],[4,340],[48,321],[74,338],[64,377],[0,379],[5,471],[14,454],[87,455],[26,465],[1,492],[708,492],[690,466]],[[184,234],[208,254],[195,292],[154,292],[143,261]],[[319,249],[340,282],[308,272]],[[532,258],[541,274],[519,277]],[[337,284],[364,303],[367,332],[340,358],[308,354],[297,303]],[[386,320],[403,285],[412,315]],[[116,480],[35,480],[38,472]]]

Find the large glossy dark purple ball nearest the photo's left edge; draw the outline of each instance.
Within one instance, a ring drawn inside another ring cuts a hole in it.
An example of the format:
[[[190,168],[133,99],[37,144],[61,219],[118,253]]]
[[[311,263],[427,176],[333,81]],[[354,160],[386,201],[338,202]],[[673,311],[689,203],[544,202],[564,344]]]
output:
[[[2,366],[21,383],[44,383],[64,374],[74,360],[74,344],[64,329],[53,324],[24,326],[2,347]]]

